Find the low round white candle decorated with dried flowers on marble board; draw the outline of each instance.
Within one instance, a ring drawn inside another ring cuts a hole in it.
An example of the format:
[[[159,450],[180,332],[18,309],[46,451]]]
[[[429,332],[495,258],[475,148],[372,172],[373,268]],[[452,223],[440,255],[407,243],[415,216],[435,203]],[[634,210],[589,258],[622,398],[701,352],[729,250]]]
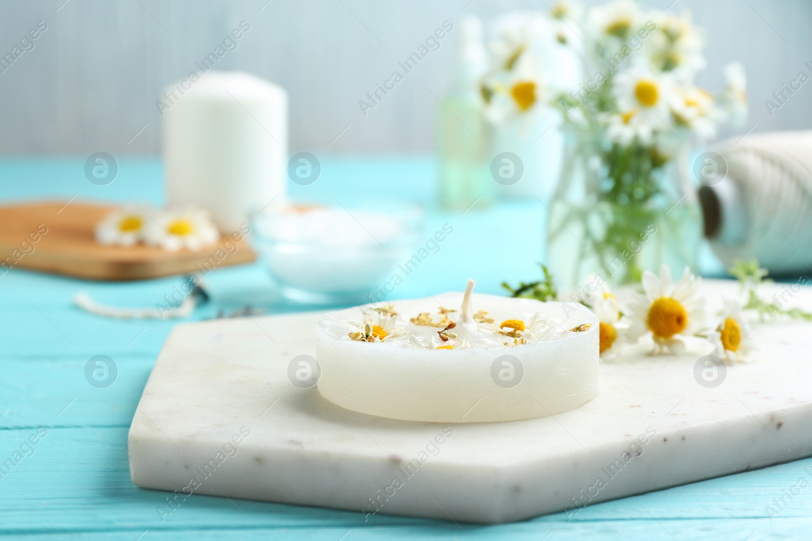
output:
[[[319,392],[348,410],[436,423],[543,417],[598,393],[591,311],[471,287],[324,316],[316,327]]]

